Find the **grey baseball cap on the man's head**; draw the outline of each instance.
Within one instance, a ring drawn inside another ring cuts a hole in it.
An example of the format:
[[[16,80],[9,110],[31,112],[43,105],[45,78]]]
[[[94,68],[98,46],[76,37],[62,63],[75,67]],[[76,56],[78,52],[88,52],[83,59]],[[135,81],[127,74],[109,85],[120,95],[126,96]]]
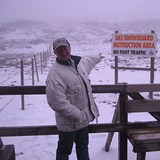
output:
[[[69,42],[67,41],[66,38],[58,38],[58,39],[53,41],[53,51],[54,52],[60,46],[70,47],[70,44],[69,44]]]

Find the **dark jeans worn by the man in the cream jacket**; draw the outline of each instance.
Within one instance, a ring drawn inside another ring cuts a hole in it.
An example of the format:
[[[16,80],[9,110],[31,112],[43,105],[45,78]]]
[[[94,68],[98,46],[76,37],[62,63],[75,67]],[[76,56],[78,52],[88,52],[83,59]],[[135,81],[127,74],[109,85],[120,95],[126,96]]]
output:
[[[76,144],[77,160],[90,160],[88,153],[88,127],[73,132],[59,131],[56,160],[69,160],[74,142]]]

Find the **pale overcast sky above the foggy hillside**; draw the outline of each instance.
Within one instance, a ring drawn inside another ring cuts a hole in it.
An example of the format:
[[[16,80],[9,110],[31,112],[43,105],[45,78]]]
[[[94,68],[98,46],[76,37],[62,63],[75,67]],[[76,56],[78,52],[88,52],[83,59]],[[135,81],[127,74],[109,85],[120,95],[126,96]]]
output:
[[[160,19],[160,0],[0,0],[0,22]]]

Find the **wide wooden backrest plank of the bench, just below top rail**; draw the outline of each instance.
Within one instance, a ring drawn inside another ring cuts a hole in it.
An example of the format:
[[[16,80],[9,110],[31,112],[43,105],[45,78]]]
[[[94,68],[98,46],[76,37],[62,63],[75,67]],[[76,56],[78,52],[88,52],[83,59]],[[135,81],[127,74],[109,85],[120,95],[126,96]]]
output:
[[[127,100],[126,112],[160,112],[160,100]]]

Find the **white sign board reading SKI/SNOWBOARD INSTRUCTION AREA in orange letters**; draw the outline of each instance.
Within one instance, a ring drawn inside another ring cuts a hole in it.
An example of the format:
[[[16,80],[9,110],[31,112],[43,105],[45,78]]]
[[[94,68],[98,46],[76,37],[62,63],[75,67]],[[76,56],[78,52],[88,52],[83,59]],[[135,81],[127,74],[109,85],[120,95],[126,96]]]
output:
[[[157,34],[112,34],[112,55],[155,57]]]

